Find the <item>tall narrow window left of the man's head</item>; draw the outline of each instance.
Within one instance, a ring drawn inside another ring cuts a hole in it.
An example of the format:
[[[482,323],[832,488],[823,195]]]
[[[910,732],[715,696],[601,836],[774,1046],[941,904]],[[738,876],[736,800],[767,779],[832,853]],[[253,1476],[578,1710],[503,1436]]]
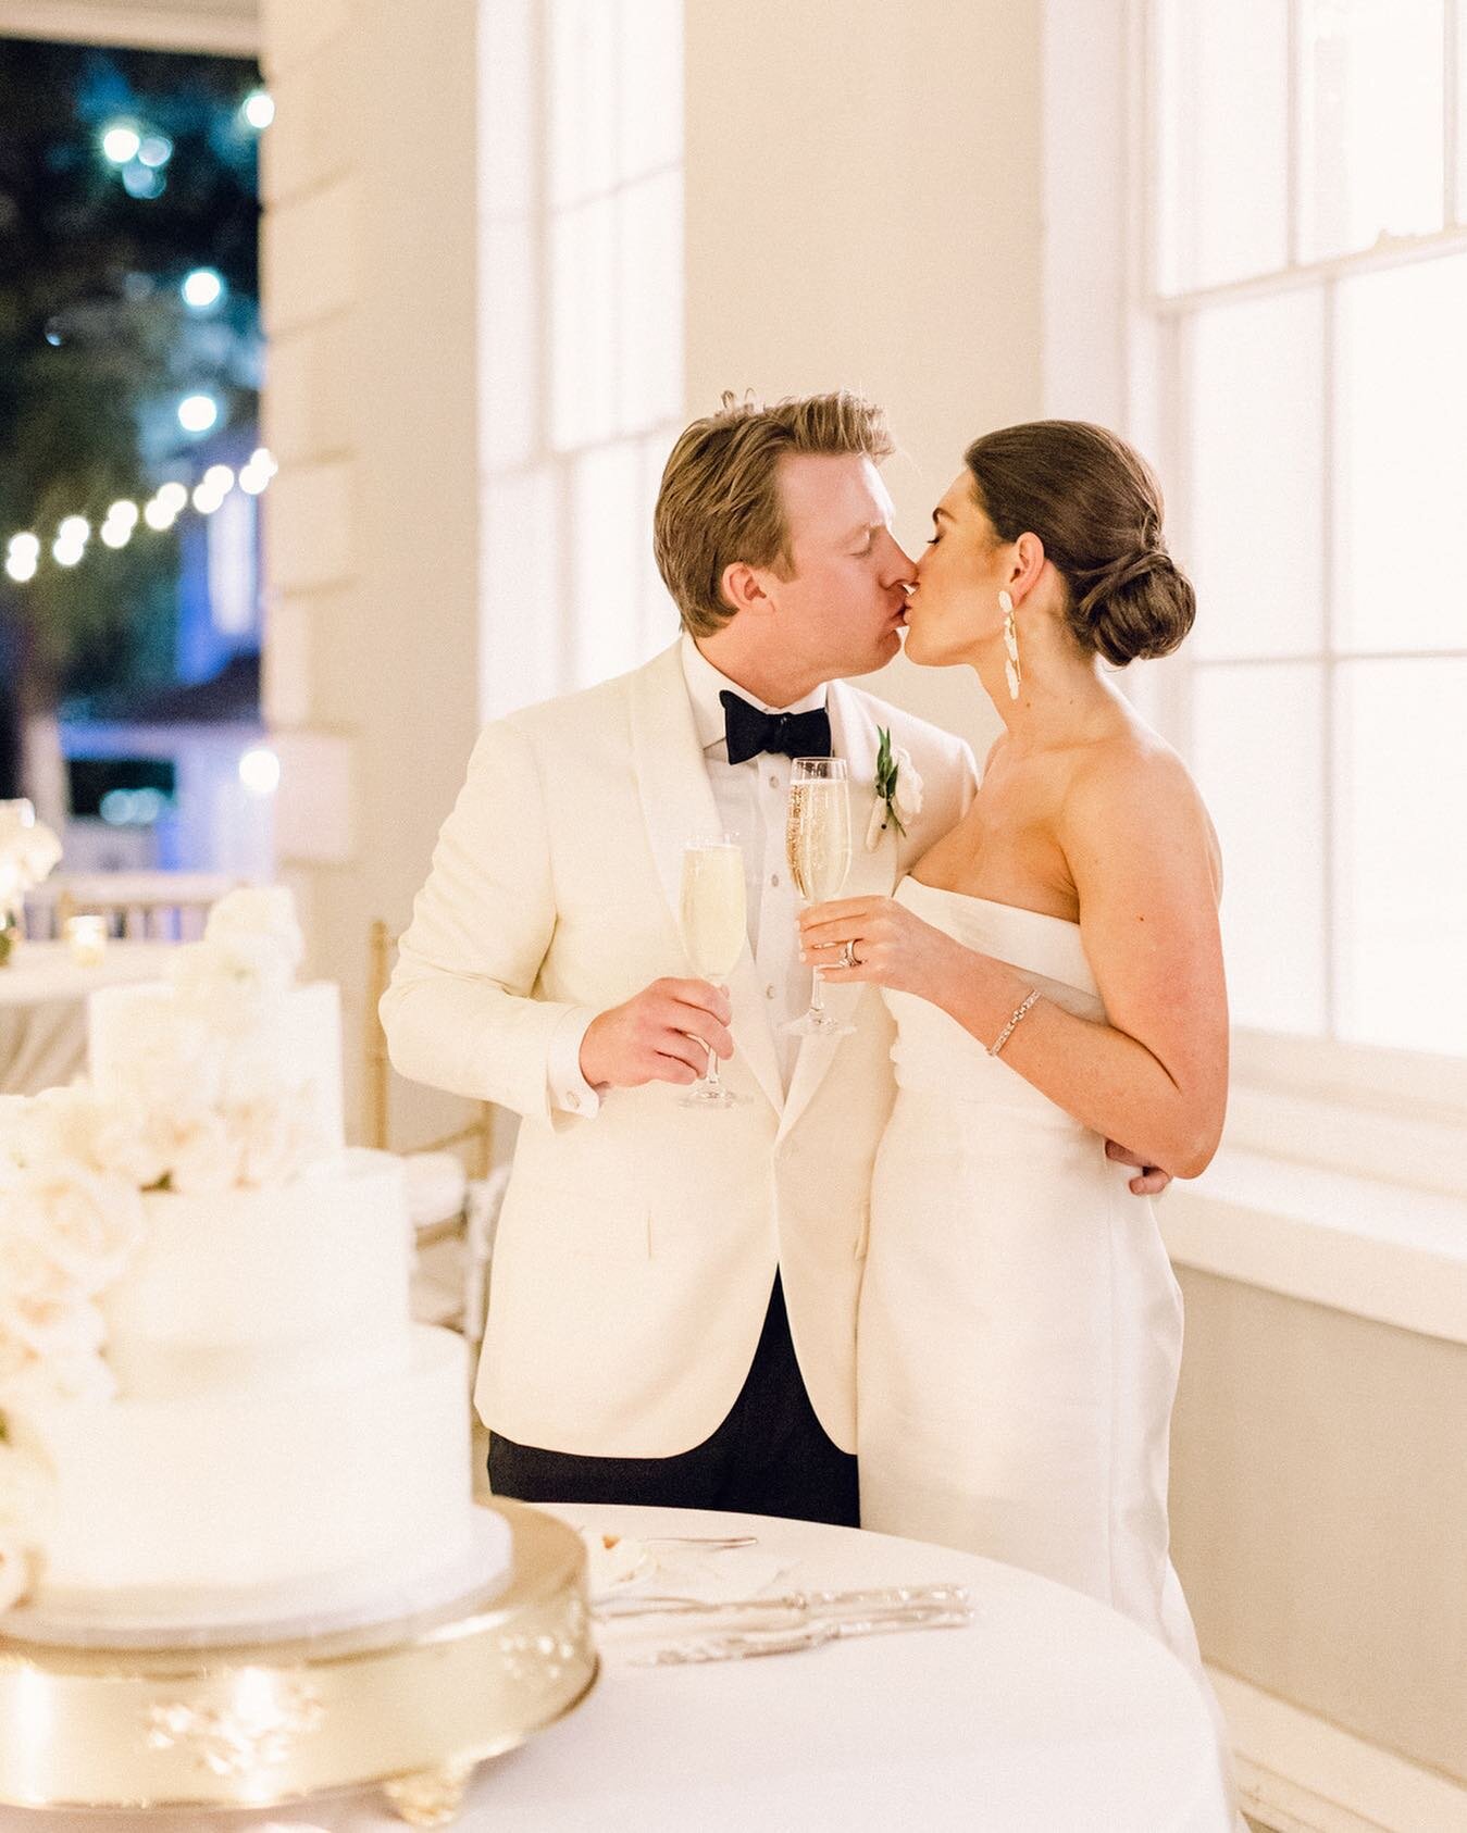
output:
[[[682,425],[682,4],[490,0],[480,57],[488,719],[677,632],[651,519]]]

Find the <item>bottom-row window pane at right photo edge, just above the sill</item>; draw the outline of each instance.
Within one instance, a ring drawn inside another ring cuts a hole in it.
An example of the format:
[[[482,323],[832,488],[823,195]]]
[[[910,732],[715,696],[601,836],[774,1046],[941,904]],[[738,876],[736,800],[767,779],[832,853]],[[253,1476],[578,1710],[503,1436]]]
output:
[[[1339,1032],[1467,1052],[1467,662],[1339,671]]]

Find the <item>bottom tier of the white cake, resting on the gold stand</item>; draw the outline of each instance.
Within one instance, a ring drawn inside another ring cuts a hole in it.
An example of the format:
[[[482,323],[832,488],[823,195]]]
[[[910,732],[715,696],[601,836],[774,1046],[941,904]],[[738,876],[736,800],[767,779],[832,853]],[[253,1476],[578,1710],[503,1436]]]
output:
[[[464,1342],[413,1325],[400,1367],[292,1389],[28,1410],[57,1477],[35,1606],[97,1619],[275,1617],[460,1558]]]

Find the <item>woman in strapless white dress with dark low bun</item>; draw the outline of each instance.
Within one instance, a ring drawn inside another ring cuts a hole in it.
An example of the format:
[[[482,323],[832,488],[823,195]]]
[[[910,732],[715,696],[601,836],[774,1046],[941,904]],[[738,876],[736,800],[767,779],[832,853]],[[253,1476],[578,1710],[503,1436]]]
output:
[[[1186,636],[1152,471],[1102,427],[979,438],[933,511],[906,653],[1003,717],[965,819],[805,959],[897,1021],[858,1329],[862,1525],[1029,1567],[1197,1675],[1168,1560],[1181,1294],[1106,1138],[1196,1177],[1227,1098],[1219,856],[1102,664]]]

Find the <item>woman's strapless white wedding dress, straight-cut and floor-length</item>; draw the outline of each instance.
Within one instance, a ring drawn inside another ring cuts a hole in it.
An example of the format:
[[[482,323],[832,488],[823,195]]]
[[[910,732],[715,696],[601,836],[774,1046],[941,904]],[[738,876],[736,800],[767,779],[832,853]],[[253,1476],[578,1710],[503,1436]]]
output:
[[[1080,926],[913,878],[897,898],[1104,1019]],[[1056,1578],[1203,1679],[1168,1558],[1181,1292],[1104,1140],[946,1012],[888,992],[897,1103],[858,1329],[862,1527]]]

